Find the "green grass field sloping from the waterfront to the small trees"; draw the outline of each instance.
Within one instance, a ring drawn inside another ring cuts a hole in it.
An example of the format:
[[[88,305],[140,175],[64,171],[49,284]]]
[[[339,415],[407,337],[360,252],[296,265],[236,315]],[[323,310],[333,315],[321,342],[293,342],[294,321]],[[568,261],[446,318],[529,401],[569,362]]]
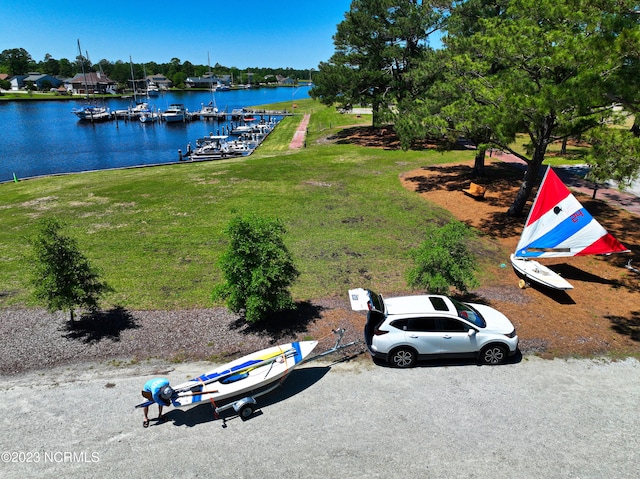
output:
[[[420,166],[472,159],[472,152],[389,151],[332,142],[346,125],[319,103],[310,112],[307,147],[288,145],[301,115],[286,118],[250,157],[153,168],[54,176],[0,185],[0,307],[32,305],[29,238],[55,216],[102,270],[114,292],[108,305],[130,309],[212,306],[232,215],[280,218],[301,272],[296,300],[344,295],[350,287],[406,288],[407,252],[424,227],[447,216],[398,175]],[[270,105],[268,107],[276,107]]]

